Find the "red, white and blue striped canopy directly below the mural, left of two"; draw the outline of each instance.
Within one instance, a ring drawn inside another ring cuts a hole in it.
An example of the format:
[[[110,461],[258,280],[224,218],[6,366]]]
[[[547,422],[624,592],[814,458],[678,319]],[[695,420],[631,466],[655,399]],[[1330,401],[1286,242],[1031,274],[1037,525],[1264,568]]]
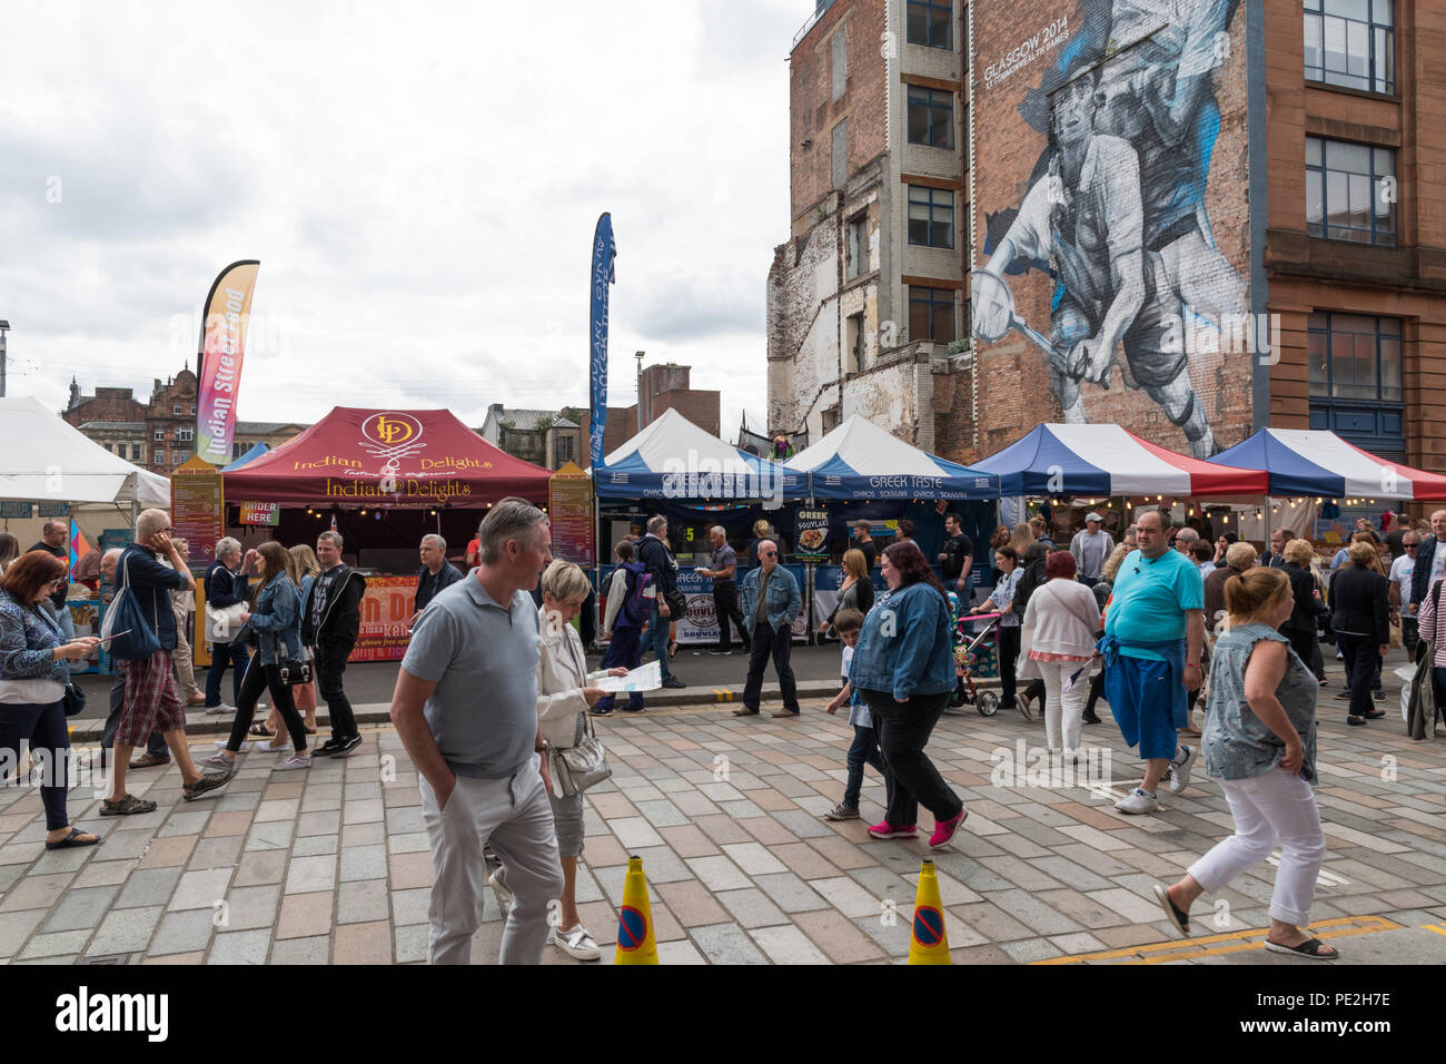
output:
[[[1116,424],[1041,424],[975,469],[1004,495],[1264,495],[1252,469],[1176,455]]]

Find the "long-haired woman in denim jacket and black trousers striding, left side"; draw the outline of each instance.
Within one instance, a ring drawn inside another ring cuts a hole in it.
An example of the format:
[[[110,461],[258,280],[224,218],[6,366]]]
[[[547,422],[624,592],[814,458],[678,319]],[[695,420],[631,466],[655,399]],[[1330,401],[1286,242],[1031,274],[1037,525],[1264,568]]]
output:
[[[272,705],[281,711],[291,734],[294,753],[279,760],[276,769],[305,769],[311,764],[307,753],[307,725],[301,719],[291,686],[282,679],[281,662],[301,660],[301,592],[292,580],[296,560],[275,540],[263,543],[257,552],[262,560],[262,588],[256,595],[256,612],[241,614],[241,621],[256,633],[256,654],[241,680],[241,696],[236,704],[236,721],[226,748],[205,759],[207,764],[230,767],[236,754],[246,748],[246,731],[252,727],[256,702],[269,689]]]

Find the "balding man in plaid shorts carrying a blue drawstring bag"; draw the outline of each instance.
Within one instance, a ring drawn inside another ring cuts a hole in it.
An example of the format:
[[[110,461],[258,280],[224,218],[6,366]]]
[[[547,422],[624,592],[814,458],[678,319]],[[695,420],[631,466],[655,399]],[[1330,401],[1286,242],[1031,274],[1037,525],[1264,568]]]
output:
[[[171,566],[161,565],[161,556]],[[182,799],[191,802],[215,793],[231,779],[230,772],[202,774],[191,761],[185,743],[185,709],[176,693],[172,656],[176,647],[176,621],[171,611],[171,591],[194,591],[195,580],[185,559],[171,540],[171,515],[165,510],[145,510],[136,518],[136,540],[126,546],[117,563],[121,586],[129,588],[136,609],[161,649],[139,660],[124,662],[126,695],[116,727],[116,764],[111,769],[111,796],[101,802],[101,816],[130,816],[153,812],[156,803],[126,792],[130,753],[159,731],[181,767]],[[123,634],[123,633],[117,633]]]

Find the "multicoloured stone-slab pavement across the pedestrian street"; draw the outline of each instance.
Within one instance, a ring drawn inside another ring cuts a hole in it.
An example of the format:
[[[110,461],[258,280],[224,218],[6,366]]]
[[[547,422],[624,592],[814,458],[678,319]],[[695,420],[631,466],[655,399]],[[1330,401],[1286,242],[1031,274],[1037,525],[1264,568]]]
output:
[[[1439,964],[1446,757],[1440,741],[1406,738],[1387,705],[1387,719],[1346,728],[1343,704],[1322,701],[1329,854],[1312,916],[1346,963]],[[626,858],[638,854],[665,964],[907,957],[928,815],[917,841],[868,840],[884,795],[869,770],[865,819],[821,819],[842,795],[850,730],[817,701],[794,719],[768,711],[599,721],[615,776],[587,795],[578,874],[599,942],[615,941]],[[1178,877],[1229,832],[1231,816],[1219,788],[1199,777],[1178,796],[1161,789],[1157,815],[1116,812],[1105,790],[1122,795],[1139,764],[1100,711],[1105,722],[1084,730],[1095,793],[1038,779],[1044,728],[1014,711],[940,722],[930,754],[969,809],[956,843],[933,854],[954,961],[1306,964],[1261,948],[1267,866],[1197,903],[1194,940],[1171,934],[1151,884]],[[192,748],[204,756],[211,744]],[[0,960],[422,961],[432,870],[416,773],[396,734],[369,730],[356,756],[309,772],[273,774],[273,760],[247,754],[220,798],[191,803],[174,767],[134,772],[133,793],[159,803],[145,816],[101,818],[91,786],[80,788],[72,816],[106,838],[52,853],[38,792],[0,789]],[[476,961],[495,963],[500,932],[489,896]],[[574,963],[552,947],[545,961]]]

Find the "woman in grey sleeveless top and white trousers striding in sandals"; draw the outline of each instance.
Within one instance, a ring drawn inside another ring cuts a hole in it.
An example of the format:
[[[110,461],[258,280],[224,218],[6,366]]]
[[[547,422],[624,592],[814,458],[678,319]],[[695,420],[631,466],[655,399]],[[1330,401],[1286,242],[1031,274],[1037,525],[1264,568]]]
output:
[[[1225,583],[1231,628],[1210,659],[1205,706],[1205,772],[1220,782],[1235,834],[1190,866],[1155,898],[1180,934],[1190,934],[1190,903],[1264,861],[1280,843],[1265,948],[1314,960],[1340,954],[1301,928],[1310,924],[1326,835],[1316,780],[1316,691],[1307,663],[1275,628],[1296,598],[1280,569],[1251,569]]]

